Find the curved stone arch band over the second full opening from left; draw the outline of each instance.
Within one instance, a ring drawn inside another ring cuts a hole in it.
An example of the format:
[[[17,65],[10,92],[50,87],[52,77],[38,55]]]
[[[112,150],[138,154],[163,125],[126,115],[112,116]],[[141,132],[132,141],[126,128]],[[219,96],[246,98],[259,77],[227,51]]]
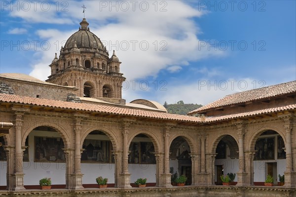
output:
[[[95,127],[95,126],[86,129],[86,131],[81,136],[81,139],[80,139],[80,147],[81,148],[82,148],[82,145],[83,145],[83,142],[84,142],[86,136],[89,133],[91,133],[92,131],[95,131],[95,130],[102,131],[103,133],[105,133],[109,137],[109,139],[110,139],[110,141],[112,143],[113,150],[114,151],[118,151],[119,150],[119,140],[118,140],[118,138],[115,137],[116,135],[114,134],[114,132],[111,131],[110,129],[106,128],[106,127]]]

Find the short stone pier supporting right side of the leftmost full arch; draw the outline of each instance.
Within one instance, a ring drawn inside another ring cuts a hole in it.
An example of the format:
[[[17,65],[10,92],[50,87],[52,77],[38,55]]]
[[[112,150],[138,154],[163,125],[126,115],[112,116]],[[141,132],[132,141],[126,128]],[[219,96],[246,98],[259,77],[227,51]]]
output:
[[[66,189],[71,189],[74,185],[72,180],[72,174],[74,172],[74,151],[75,149],[65,148],[62,149],[66,155]]]

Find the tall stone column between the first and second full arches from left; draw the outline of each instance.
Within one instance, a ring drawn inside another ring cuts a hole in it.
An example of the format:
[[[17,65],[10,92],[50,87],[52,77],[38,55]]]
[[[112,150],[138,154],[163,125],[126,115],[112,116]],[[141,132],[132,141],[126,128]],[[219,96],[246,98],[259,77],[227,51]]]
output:
[[[81,132],[81,120],[75,119],[74,120],[74,133],[75,133],[75,151],[74,151],[74,174],[72,174],[72,190],[79,190],[83,189],[82,186],[82,176],[81,173],[81,149],[80,149],[80,132]]]

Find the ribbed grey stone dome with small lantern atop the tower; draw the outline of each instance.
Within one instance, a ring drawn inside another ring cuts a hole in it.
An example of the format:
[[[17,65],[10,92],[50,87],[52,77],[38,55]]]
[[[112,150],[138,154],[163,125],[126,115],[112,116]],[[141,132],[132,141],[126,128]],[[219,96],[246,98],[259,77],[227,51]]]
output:
[[[105,55],[109,55],[105,46],[101,42],[101,40],[92,32],[89,31],[88,25],[89,23],[85,18],[80,22],[81,28],[79,27],[79,31],[75,32],[66,42],[64,50],[72,49],[77,47],[78,49],[85,49],[88,52],[89,49],[99,50],[101,53]],[[76,46],[75,46],[76,44]]]

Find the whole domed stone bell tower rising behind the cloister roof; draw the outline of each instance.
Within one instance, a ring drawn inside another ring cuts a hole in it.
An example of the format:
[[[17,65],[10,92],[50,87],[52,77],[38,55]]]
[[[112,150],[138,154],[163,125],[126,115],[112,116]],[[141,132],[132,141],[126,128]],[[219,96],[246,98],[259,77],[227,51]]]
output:
[[[118,57],[109,53],[101,40],[90,32],[85,18],[80,27],[61,48],[60,56],[49,65],[51,75],[46,80],[78,88],[77,96],[120,103],[122,82]],[[116,101],[117,100],[117,101]]]

